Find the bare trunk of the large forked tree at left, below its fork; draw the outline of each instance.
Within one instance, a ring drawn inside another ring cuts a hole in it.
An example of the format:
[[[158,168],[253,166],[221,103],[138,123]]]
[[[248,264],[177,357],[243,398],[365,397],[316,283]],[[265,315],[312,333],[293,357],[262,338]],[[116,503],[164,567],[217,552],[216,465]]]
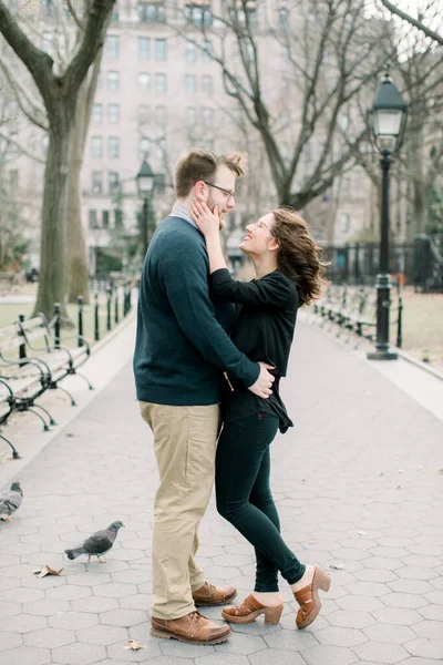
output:
[[[66,98],[60,99],[49,130],[40,248],[41,269],[33,313],[34,315],[42,313],[51,319],[54,303],[60,303],[64,321],[69,321],[65,307],[65,193],[72,115],[72,108],[70,109]]]

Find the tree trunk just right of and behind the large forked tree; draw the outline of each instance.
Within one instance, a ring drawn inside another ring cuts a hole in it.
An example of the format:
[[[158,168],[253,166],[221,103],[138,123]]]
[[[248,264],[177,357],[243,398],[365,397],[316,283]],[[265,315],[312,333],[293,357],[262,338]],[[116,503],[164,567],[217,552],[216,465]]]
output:
[[[83,164],[85,132],[84,84],[80,89],[75,122],[71,133],[70,171],[66,184],[66,291],[68,301],[76,303],[79,296],[89,303],[89,273],[86,244],[83,234],[80,205],[80,173]]]

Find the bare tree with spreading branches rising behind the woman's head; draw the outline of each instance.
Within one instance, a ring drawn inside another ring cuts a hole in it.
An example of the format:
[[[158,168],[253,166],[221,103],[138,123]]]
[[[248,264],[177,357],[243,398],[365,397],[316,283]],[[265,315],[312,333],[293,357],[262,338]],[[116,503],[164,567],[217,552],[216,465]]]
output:
[[[280,204],[302,208],[354,165],[364,125],[348,122],[348,143],[340,125],[383,64],[379,23],[363,3],[225,0],[220,14],[194,11],[187,21],[200,38],[182,32],[219,64],[226,93],[258,133]]]

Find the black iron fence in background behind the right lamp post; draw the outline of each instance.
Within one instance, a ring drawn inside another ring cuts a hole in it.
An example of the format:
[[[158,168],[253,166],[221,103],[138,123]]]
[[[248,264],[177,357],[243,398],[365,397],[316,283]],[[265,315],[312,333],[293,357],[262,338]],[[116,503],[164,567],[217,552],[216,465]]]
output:
[[[390,273],[394,284],[413,285],[418,290],[443,291],[443,257],[431,236],[416,236],[414,243],[391,244]],[[323,246],[328,279],[334,284],[373,286],[379,273],[380,246],[352,243]]]

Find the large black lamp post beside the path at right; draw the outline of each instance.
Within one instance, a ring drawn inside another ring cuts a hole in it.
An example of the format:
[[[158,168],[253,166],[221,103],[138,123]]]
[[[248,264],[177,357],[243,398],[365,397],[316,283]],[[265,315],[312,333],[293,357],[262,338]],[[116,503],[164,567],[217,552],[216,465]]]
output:
[[[408,105],[389,74],[385,74],[369,112],[374,144],[381,154],[382,198],[380,269],[377,275],[377,341],[371,360],[395,360],[398,355],[389,348],[389,310],[391,276],[389,274],[389,170],[392,155],[399,152],[406,123]]]

